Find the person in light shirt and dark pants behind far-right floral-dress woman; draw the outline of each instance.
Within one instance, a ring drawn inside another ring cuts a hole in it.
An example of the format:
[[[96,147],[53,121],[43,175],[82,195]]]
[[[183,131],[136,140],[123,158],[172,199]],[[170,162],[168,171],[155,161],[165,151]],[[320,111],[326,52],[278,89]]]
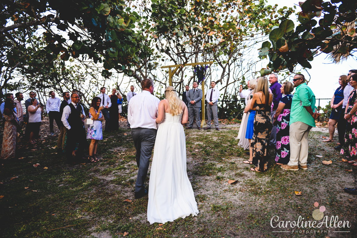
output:
[[[352,73],[351,71],[348,72],[347,79],[346,79],[347,85],[343,89],[342,112],[345,112],[345,108],[348,102],[348,97],[350,97],[350,93],[353,89],[353,87],[350,85],[350,78]],[[347,120],[345,120],[345,114],[341,113],[337,123],[338,141],[340,142],[340,145],[335,147],[335,150],[337,151],[341,151],[342,146],[345,144],[346,126],[347,126]]]

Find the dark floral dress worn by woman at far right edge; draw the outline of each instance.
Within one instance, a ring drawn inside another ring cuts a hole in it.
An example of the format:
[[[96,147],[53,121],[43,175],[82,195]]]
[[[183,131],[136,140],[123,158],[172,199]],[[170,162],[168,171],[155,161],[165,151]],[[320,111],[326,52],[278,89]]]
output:
[[[348,97],[348,108],[347,113],[350,112],[353,106],[357,103],[357,93],[356,89],[353,89]],[[347,120],[347,127],[345,133],[345,145],[342,146],[340,154],[346,155],[351,158],[351,160],[357,159],[357,112],[351,115],[350,119]]]

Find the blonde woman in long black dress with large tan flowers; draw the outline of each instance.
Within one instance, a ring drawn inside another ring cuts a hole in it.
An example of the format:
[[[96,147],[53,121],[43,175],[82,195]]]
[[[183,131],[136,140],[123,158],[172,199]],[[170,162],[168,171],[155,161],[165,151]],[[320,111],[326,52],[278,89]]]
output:
[[[270,115],[273,94],[269,93],[268,79],[266,77],[258,78],[255,90],[256,93],[253,95],[251,102],[251,110],[255,110],[255,117],[254,133],[250,147],[253,154],[253,165],[257,167],[250,170],[264,172],[267,170],[269,138],[273,128]]]

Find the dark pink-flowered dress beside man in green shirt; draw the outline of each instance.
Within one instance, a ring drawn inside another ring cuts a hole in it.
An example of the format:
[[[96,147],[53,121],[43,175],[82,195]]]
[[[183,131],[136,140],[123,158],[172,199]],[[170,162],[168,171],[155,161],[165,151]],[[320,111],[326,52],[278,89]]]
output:
[[[284,103],[285,106],[283,112],[278,116],[276,126],[275,161],[283,165],[290,161],[289,121],[292,98],[292,94],[281,98],[280,103]]]

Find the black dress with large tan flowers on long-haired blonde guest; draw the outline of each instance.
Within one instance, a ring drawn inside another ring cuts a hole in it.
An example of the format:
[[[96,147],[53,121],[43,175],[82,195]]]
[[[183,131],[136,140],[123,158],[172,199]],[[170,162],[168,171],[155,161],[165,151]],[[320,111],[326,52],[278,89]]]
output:
[[[265,104],[255,104],[254,133],[250,143],[253,154],[253,164],[257,170],[264,172],[268,166],[268,146],[270,133],[273,128],[270,107],[265,109]]]

